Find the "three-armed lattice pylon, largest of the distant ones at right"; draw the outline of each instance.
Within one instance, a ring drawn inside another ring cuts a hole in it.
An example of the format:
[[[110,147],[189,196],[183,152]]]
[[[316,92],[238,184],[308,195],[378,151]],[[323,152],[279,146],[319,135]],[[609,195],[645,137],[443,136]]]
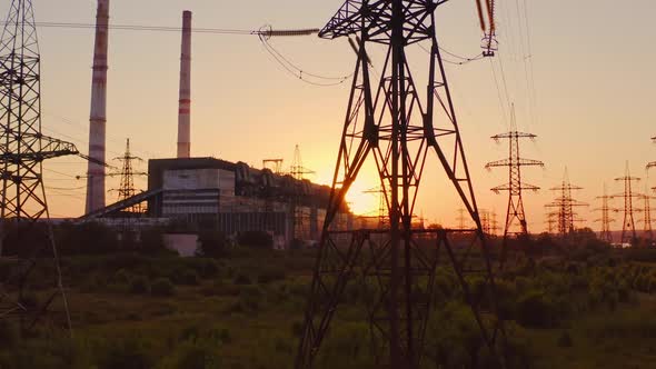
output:
[[[538,160],[521,158],[519,156],[519,139],[533,140],[537,136],[533,133],[517,131],[517,124],[515,121],[515,106],[513,106],[510,113],[510,131],[491,137],[497,142],[499,140],[508,140],[508,159],[488,162],[485,166],[485,168],[488,170],[497,167],[508,167],[508,182],[491,189],[495,193],[508,191],[508,208],[506,211],[506,227],[504,230],[504,238],[510,235],[528,235],[521,192],[524,190],[537,191],[539,190],[539,187],[521,181],[521,167],[544,167],[545,164]]]

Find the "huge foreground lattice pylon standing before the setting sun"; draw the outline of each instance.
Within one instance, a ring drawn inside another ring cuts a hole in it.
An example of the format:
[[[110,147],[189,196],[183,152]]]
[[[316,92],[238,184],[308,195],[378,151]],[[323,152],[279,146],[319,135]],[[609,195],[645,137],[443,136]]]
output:
[[[416,369],[427,352],[424,338],[435,301],[436,268],[453,268],[464,301],[480,329],[481,349],[491,359],[504,342],[496,313],[494,276],[474,197],[465,149],[436,37],[436,9],[445,1],[348,0],[319,33],[335,39],[356,37],[358,60],[319,243],[305,328],[296,368],[311,368],[344,302],[348,283],[371,291],[365,309],[372,353],[371,367]],[[415,83],[406,48],[430,43],[424,60],[428,80]],[[381,48],[380,77],[372,80],[368,48]],[[426,88],[427,87],[427,88]],[[413,213],[424,170],[433,152],[453,183],[474,229],[414,228]],[[389,212],[386,230],[334,230],[344,199],[365,163],[376,166]],[[454,233],[457,236],[454,237]],[[466,237],[467,236],[467,237]],[[478,252],[469,252],[477,248]],[[475,262],[476,255],[478,262]],[[480,257],[480,258],[478,258]],[[475,296],[469,281],[479,277],[489,295]],[[364,342],[362,342],[364,343]]]

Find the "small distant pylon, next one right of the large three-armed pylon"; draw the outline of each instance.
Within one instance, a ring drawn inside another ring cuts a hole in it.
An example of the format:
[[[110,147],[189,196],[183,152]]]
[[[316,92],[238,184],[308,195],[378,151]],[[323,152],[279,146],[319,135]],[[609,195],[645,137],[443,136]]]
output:
[[[571,184],[569,182],[569,173],[567,172],[567,169],[565,169],[560,186],[553,187],[550,190],[555,191],[557,196],[556,199],[546,207],[554,209],[558,235],[566,237],[574,232],[576,229],[576,222],[583,221],[583,218],[578,218],[577,212],[574,209],[588,206],[585,202],[576,200],[571,195],[573,191],[583,190],[583,187]]]

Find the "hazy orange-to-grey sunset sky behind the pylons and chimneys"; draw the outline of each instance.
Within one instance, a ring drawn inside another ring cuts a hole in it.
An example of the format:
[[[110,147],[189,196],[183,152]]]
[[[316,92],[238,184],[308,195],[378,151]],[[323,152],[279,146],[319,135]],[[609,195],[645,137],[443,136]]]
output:
[[[1,12],[7,12],[8,2],[0,6]],[[191,10],[197,28],[320,28],[341,2],[111,0],[110,22],[179,27],[182,10]],[[474,3],[451,0],[438,9],[438,37],[448,51],[460,56],[480,52]],[[529,231],[545,228],[544,205],[554,196],[546,189],[560,182],[565,167],[571,181],[585,188],[578,198],[592,205],[582,211],[586,225],[598,229],[592,220],[600,215],[592,210],[600,206],[595,197],[602,195],[604,182],[610,193],[618,193],[620,183],[613,179],[624,174],[627,160],[637,177],[645,177],[646,162],[656,160],[656,146],[649,140],[656,136],[656,28],[652,21],[656,4],[648,0],[622,6],[609,0],[497,3],[498,57],[447,66],[479,207],[496,210],[499,220],[505,213],[507,193],[495,195],[489,188],[505,182],[507,172],[488,172],[484,166],[507,152],[506,146],[496,144],[489,137],[508,129],[504,117],[513,101],[519,130],[538,136],[536,142],[523,142],[523,156],[546,164],[544,170],[527,169],[523,176],[543,188],[525,197]],[[33,0],[33,4],[37,21],[95,20],[95,1]],[[43,132],[71,140],[86,151],[93,30],[41,28],[39,40]],[[145,160],[175,156],[180,34],[115,30],[109,43],[108,157],[120,156],[127,138]],[[271,43],[315,73],[347,76],[355,67],[355,56],[344,39],[280,38]],[[410,50],[409,56],[426,58],[419,48]],[[372,54],[374,64],[377,57]],[[527,86],[530,69],[534,88]],[[305,167],[317,172],[310,179],[329,182],[349,83],[319,88],[294,79],[268,57],[254,36],[195,33],[191,76],[192,156],[246,161],[255,167],[261,167],[265,158],[285,158],[289,166],[298,143]],[[420,76],[417,78],[418,84],[425,83]],[[528,98],[531,93],[535,100]],[[418,209],[429,221],[453,226],[458,201],[444,183],[437,161],[430,163]],[[81,215],[85,180],[74,177],[85,174],[86,163],[61,158],[48,161],[44,168],[52,216]],[[140,168],[145,170],[146,163]],[[374,187],[376,181],[368,174],[354,191]],[[137,183],[146,186],[145,179]],[[107,187],[118,187],[118,179],[109,179]],[[116,196],[108,193],[108,202]],[[351,200],[359,211],[374,210],[377,203],[369,195],[351,195]],[[619,206],[619,200],[615,205]],[[637,226],[642,229],[640,222]]]

